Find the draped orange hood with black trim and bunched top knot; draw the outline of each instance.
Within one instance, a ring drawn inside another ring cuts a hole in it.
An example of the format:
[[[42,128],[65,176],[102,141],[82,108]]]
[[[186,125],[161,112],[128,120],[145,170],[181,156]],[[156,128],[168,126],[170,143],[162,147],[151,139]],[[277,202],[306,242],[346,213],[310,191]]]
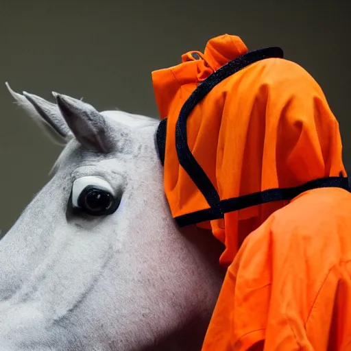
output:
[[[308,189],[348,187],[326,97],[279,48],[250,53],[239,37],[218,36],[152,79],[167,121],[165,193],[181,226],[212,227],[224,242],[224,213],[265,220]]]

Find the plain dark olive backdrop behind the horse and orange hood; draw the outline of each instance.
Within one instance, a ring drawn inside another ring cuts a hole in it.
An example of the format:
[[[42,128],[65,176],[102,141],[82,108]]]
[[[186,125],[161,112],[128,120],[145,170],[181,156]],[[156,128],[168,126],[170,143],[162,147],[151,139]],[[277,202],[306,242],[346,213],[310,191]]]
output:
[[[220,34],[280,46],[322,86],[351,171],[350,1],[8,1],[0,3],[0,228],[12,226],[60,154],[13,104],[17,91],[84,97],[158,118],[151,72]],[[0,234],[1,235],[1,234]]]

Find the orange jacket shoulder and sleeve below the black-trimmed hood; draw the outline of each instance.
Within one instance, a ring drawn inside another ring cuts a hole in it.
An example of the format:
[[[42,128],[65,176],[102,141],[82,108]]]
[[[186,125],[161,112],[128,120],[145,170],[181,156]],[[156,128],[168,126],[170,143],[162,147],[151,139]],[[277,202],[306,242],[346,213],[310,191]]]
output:
[[[245,239],[202,350],[246,351],[260,341],[263,351],[351,350],[350,195],[315,193],[278,210]],[[334,202],[345,210],[333,213]]]

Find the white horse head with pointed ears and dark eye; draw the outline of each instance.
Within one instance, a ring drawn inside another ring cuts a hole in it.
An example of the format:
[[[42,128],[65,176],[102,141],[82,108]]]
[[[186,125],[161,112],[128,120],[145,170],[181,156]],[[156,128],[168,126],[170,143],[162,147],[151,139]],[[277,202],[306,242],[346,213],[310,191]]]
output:
[[[158,121],[8,88],[65,147],[0,241],[0,351],[200,350],[222,247],[171,218]]]

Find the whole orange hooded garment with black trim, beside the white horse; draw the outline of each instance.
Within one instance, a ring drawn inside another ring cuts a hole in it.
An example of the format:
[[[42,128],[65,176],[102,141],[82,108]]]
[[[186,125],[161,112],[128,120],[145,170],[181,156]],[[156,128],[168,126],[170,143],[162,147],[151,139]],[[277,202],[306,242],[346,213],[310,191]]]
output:
[[[351,350],[351,194],[339,125],[279,48],[208,41],[152,73],[165,193],[228,267],[204,351]]]

